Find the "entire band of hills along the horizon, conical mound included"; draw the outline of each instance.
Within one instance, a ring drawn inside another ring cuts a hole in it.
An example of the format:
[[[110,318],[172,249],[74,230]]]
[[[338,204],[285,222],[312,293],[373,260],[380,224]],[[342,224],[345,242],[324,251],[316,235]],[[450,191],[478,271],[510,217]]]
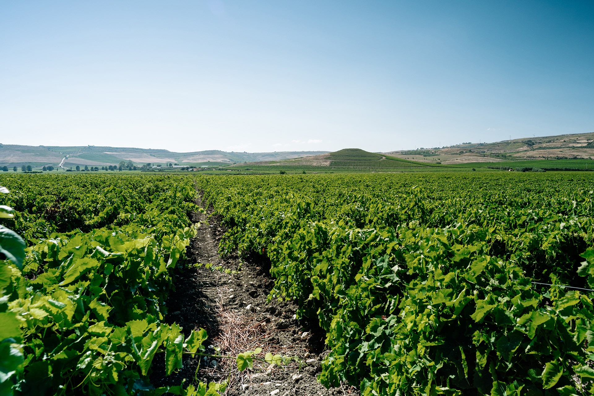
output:
[[[187,166],[225,167],[231,170],[314,170],[324,172],[390,172],[392,170],[444,169],[451,166],[484,168],[510,166],[516,161],[553,161],[547,168],[591,169],[594,133],[505,140],[492,143],[463,143],[449,147],[369,153],[358,148],[327,151],[277,151],[237,153],[220,150],[176,153],[174,151],[99,146],[29,146],[0,144],[0,166],[31,165],[109,166],[131,160],[135,164],[173,163]],[[347,161],[347,162],[344,162]],[[353,162],[358,161],[358,162]],[[563,161],[555,164],[554,161]],[[567,162],[570,161],[570,162]],[[526,166],[522,164],[522,166]],[[534,164],[537,166],[537,164]]]

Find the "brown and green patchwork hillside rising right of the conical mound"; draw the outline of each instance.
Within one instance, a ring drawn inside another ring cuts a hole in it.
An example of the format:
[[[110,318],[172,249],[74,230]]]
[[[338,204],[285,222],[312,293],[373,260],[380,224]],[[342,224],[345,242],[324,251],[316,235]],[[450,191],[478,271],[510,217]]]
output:
[[[385,154],[424,163],[460,164],[510,160],[594,159],[594,132],[587,134],[462,143],[448,147],[388,151]]]

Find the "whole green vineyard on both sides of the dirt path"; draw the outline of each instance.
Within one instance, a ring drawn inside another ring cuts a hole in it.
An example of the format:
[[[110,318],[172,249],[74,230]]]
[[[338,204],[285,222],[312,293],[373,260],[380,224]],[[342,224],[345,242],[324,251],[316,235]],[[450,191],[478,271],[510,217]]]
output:
[[[149,390],[153,359],[170,373],[207,336],[162,322],[170,271],[196,233],[196,189],[228,230],[220,254],[268,261],[270,298],[295,301],[326,332],[323,384],[594,394],[587,172],[3,175],[0,185],[11,191],[0,204],[16,211],[2,224],[28,245],[22,265],[0,266],[2,394],[165,391]],[[174,390],[216,394],[207,388]]]

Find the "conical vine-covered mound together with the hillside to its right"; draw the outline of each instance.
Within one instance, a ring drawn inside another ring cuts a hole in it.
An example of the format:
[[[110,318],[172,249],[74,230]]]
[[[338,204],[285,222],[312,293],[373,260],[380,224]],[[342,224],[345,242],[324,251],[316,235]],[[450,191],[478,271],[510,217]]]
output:
[[[332,153],[280,161],[255,161],[225,170],[315,172],[465,171],[537,167],[546,170],[594,169],[594,133],[516,139],[495,143],[463,143],[443,148],[370,153],[344,148]],[[533,163],[533,164],[531,164]],[[498,166],[500,164],[500,166]]]

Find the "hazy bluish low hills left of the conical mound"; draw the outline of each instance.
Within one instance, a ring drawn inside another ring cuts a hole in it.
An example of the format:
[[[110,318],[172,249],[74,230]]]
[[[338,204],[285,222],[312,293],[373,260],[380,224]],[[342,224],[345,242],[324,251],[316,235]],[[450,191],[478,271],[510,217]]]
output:
[[[0,144],[0,166],[58,166],[65,158],[63,166],[76,165],[115,165],[120,161],[131,160],[135,164],[199,165],[213,162],[233,164],[251,161],[284,160],[298,157],[315,156],[327,151],[275,151],[274,153],[238,153],[220,150],[193,151],[176,153],[169,150],[134,147],[100,147],[100,146],[29,146]]]

